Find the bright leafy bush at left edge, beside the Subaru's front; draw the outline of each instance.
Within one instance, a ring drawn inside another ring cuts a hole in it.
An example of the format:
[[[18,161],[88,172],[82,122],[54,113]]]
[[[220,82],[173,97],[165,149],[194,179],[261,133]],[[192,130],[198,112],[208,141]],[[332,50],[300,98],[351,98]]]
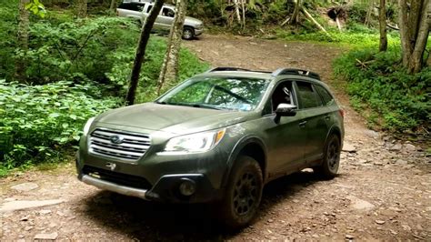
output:
[[[99,90],[71,82],[25,86],[0,80],[0,173],[76,143],[86,119],[120,103],[102,99]]]

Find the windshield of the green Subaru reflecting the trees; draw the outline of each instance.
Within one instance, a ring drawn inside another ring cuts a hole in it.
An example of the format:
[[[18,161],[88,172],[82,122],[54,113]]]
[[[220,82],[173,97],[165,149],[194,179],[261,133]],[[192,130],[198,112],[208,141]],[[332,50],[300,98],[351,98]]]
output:
[[[156,103],[250,111],[259,105],[268,84],[268,80],[256,78],[195,78],[175,87]]]

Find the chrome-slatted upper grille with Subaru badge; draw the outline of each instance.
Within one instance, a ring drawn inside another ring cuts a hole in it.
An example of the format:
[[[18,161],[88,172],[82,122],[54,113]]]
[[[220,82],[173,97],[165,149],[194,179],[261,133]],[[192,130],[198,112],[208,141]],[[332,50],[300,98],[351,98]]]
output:
[[[90,136],[90,153],[135,161],[144,156],[150,144],[150,136],[144,134],[98,128]]]

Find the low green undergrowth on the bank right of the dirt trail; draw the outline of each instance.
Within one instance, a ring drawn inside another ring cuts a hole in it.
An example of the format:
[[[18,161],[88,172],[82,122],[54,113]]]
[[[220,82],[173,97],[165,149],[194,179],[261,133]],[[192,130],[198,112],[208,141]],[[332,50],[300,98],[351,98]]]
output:
[[[347,81],[347,92],[356,110],[370,124],[390,131],[415,130],[431,119],[429,88],[431,67],[414,76],[400,65],[400,49],[357,49],[334,62],[336,76]]]

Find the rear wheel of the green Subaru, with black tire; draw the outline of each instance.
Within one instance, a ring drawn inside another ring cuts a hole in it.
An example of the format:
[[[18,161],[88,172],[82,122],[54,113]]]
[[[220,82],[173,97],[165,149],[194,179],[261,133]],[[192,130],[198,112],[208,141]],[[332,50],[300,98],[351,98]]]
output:
[[[340,138],[336,135],[329,136],[326,141],[322,164],[314,167],[315,172],[325,179],[334,178],[340,166],[340,153]]]

